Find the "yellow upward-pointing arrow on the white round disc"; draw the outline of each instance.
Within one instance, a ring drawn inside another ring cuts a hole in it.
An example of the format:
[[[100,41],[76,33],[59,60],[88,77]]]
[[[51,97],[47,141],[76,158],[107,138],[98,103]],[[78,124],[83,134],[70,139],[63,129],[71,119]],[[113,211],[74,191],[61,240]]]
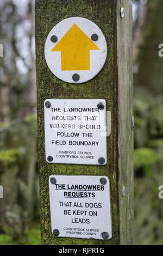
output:
[[[74,24],[61,38],[52,52],[61,52],[61,70],[90,70],[90,50],[97,45]]]

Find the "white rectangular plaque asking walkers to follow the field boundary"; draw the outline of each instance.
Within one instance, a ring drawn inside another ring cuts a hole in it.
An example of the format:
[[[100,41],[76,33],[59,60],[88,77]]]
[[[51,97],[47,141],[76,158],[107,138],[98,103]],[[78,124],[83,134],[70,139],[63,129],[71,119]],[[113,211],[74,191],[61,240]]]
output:
[[[49,163],[106,164],[105,100],[46,100]]]

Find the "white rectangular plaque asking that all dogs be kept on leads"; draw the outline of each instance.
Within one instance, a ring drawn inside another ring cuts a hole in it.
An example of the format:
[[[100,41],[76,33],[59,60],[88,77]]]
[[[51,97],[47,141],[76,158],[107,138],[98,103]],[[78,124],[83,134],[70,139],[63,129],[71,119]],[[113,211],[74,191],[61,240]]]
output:
[[[110,188],[107,176],[49,176],[54,236],[111,239]]]

